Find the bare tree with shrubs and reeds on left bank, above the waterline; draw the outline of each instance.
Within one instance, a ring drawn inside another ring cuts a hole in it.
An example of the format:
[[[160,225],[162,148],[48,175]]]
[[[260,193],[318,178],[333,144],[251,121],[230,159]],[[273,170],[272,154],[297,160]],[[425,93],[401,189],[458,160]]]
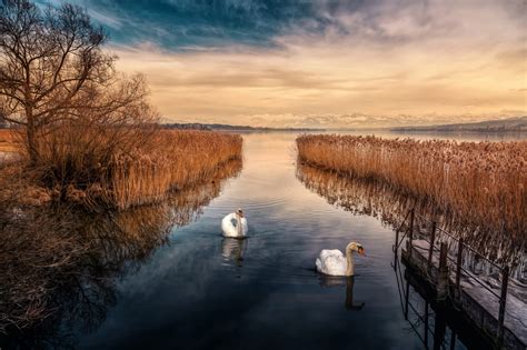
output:
[[[240,159],[238,136],[162,131],[145,78],[115,69],[107,39],[80,7],[2,1],[0,122],[12,129],[0,146],[28,199],[122,210]]]

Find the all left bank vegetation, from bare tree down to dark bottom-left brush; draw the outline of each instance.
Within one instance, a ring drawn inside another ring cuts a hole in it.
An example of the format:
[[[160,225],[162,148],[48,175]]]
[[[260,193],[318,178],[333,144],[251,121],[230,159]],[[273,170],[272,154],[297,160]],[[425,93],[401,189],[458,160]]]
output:
[[[185,219],[239,170],[241,137],[162,130],[146,79],[116,70],[107,39],[80,7],[0,2],[0,333],[56,320],[71,286],[99,298],[95,284],[180,222],[158,213]]]

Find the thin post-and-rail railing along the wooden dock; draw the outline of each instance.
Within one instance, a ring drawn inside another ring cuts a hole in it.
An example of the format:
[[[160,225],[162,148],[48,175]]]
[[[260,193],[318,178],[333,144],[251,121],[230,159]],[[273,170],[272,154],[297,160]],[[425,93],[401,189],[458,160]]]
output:
[[[498,311],[498,330],[497,330],[497,339],[498,339],[498,344],[503,342],[504,339],[504,322],[505,322],[505,309],[506,309],[506,302],[507,302],[507,287],[508,287],[508,281],[509,281],[509,267],[508,266],[498,266],[494,261],[487,259],[484,254],[479,253],[476,249],[471,248],[467,243],[464,242],[463,238],[457,238],[455,234],[441,229],[440,227],[437,226],[437,222],[434,220],[429,220],[418,213],[416,213],[415,208],[409,210],[400,223],[399,228],[396,230],[396,241],[392,247],[394,253],[395,253],[395,259],[397,259],[398,254],[398,249],[399,246],[402,243],[405,237],[407,236],[407,247],[408,247],[408,253],[411,254],[412,251],[412,241],[414,241],[414,236],[415,236],[415,221],[416,218],[419,220],[422,220],[424,222],[427,222],[430,226],[430,231],[429,234],[422,234],[424,232],[419,231],[420,239],[426,240],[429,243],[429,250],[428,250],[428,268],[431,269],[432,267],[432,256],[434,251],[440,252],[440,248],[436,247],[436,243],[439,241],[438,236],[444,234],[448,237],[448,241],[450,243],[454,243],[454,257],[453,257],[453,250],[450,249],[450,253],[444,252],[444,254],[447,257],[448,261],[450,261],[450,264],[455,267],[455,298],[453,301],[460,301],[461,297],[461,273],[465,274],[466,277],[470,278],[471,280],[476,281],[479,286],[481,286],[484,289],[486,289],[491,296],[497,298],[497,301],[499,302],[499,311]],[[400,232],[405,231],[404,234],[399,238]],[[446,244],[441,244],[444,249],[446,249]],[[457,249],[456,249],[457,248]],[[481,281],[477,276],[475,276],[471,271],[467,270],[464,268],[464,252],[469,251],[473,253],[477,259],[480,259],[487,263],[489,263],[494,269],[499,271],[500,274],[500,293],[496,293],[495,290],[489,288],[484,281]],[[410,256],[411,257],[411,256]],[[439,267],[441,269],[441,267]]]

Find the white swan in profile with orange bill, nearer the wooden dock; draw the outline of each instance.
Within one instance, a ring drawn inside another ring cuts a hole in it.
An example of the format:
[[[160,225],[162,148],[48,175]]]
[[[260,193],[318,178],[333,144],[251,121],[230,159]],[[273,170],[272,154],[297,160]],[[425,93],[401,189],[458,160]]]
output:
[[[338,249],[322,249],[316,261],[317,271],[329,276],[354,276],[355,251],[365,254],[362,244],[357,242],[350,242],[346,247],[346,256]]]

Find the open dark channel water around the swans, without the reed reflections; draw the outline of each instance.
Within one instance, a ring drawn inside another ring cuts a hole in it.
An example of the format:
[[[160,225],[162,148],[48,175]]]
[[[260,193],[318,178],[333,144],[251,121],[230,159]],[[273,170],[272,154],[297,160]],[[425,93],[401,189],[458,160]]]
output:
[[[390,266],[392,229],[307,189],[297,178],[295,134],[243,139],[240,176],[197,221],[172,229],[169,244],[119,280],[106,319],[78,332],[76,346],[422,349],[424,334],[412,329],[419,320],[405,319]],[[222,238],[220,220],[238,207],[249,238]],[[351,240],[367,253],[356,258],[354,279],[325,279],[314,270],[321,249],[344,250]],[[422,307],[412,289],[410,300]],[[466,346],[457,340],[454,348]]]

